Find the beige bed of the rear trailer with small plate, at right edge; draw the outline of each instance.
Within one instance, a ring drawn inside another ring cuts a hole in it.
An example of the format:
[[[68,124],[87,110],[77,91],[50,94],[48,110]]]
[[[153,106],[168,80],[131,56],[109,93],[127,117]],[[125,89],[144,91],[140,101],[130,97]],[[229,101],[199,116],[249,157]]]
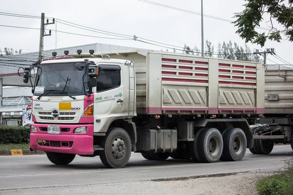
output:
[[[265,113],[293,114],[293,70],[266,70],[265,73]]]

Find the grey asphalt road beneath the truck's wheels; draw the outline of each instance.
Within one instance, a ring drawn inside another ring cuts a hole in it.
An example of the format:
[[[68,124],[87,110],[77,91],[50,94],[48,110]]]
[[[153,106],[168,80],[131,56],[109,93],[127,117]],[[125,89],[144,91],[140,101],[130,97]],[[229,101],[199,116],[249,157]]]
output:
[[[288,145],[275,146],[270,155],[252,155],[247,150],[243,160],[238,162],[195,163],[192,160],[172,158],[150,161],[141,154],[132,153],[129,163],[123,169],[105,168],[99,156],[76,156],[67,166],[54,165],[45,155],[0,156],[0,194],[22,194],[19,189],[84,187],[161,178],[270,171],[281,168],[290,156],[292,149]]]

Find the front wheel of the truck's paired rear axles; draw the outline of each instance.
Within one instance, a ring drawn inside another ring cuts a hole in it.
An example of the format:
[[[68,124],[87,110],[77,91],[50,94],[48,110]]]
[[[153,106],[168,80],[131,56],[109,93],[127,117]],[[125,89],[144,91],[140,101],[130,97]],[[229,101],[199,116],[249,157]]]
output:
[[[199,136],[198,153],[202,162],[217,162],[223,153],[223,138],[216,128],[208,128]]]

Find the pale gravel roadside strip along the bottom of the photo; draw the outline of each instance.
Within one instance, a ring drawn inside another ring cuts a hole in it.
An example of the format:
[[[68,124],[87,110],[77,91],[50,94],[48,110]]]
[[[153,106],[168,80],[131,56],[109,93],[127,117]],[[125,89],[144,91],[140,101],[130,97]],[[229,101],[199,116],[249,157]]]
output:
[[[257,195],[259,174],[0,191],[1,195]],[[123,178],[121,178],[123,180]]]

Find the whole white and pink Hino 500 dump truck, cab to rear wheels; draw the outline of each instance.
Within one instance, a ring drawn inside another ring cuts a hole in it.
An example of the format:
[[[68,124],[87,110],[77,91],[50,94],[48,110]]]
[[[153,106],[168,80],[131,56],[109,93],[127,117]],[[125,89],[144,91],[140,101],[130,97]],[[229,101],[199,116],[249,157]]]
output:
[[[36,65],[30,150],[54,164],[76,155],[126,166],[148,160],[238,161],[264,114],[261,63],[151,50],[53,57]],[[23,81],[31,79],[25,68]]]

